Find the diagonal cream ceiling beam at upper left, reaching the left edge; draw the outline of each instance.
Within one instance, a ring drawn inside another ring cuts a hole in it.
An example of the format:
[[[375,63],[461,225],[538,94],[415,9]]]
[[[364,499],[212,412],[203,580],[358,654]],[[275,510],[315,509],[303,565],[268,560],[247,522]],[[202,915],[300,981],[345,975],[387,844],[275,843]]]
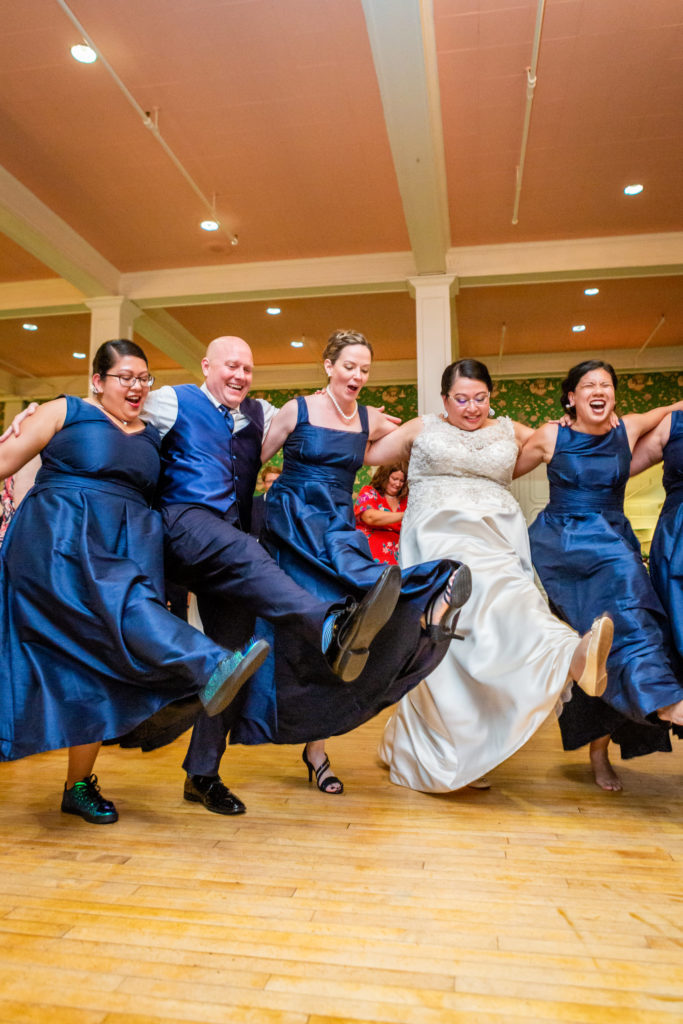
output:
[[[119,270],[4,167],[0,167],[0,231],[84,296],[118,293]]]

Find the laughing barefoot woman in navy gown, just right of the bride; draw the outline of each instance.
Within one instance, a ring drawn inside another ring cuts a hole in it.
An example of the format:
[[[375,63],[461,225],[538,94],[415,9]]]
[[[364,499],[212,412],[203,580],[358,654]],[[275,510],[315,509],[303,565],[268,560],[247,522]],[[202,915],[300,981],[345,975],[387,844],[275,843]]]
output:
[[[683,723],[683,685],[669,659],[668,622],[624,514],[632,449],[670,409],[625,416],[612,427],[616,375],[589,359],[562,384],[572,426],[547,423],[529,437],[515,475],[548,464],[550,502],[529,527],[531,557],[557,613],[580,632],[601,612],[614,621],[601,698],[577,687],[560,716],[565,750],[590,743],[597,784],[622,788],[608,758],[671,750],[671,723]]]

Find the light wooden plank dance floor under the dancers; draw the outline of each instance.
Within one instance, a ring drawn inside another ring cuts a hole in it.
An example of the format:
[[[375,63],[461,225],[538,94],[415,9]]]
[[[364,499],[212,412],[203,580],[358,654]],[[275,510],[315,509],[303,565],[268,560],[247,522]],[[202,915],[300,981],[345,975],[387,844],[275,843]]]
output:
[[[233,818],[182,801],[184,738],[102,751],[115,825],[60,814],[63,755],[0,765],[0,1021],[683,1021],[683,745],[605,795],[549,722],[428,797],[381,724],[331,742],[341,798],[232,748]]]

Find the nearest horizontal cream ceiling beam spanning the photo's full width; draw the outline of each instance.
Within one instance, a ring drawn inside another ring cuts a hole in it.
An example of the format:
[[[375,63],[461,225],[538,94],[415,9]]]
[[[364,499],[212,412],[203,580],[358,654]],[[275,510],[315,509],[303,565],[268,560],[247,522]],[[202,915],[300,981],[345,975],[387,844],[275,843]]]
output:
[[[461,289],[584,279],[683,273],[683,232],[461,246],[447,253]],[[124,273],[120,294],[141,309],[316,295],[408,291],[412,253],[190,266]],[[81,293],[57,279],[0,285],[0,319],[86,312]]]

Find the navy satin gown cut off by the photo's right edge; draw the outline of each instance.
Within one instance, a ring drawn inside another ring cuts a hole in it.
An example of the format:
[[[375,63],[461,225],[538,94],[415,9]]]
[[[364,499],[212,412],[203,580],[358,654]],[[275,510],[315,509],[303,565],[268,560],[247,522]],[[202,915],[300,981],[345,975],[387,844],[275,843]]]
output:
[[[667,499],[650,546],[650,573],[669,615],[674,668],[683,682],[683,412],[678,410],[664,450],[664,486]]]

